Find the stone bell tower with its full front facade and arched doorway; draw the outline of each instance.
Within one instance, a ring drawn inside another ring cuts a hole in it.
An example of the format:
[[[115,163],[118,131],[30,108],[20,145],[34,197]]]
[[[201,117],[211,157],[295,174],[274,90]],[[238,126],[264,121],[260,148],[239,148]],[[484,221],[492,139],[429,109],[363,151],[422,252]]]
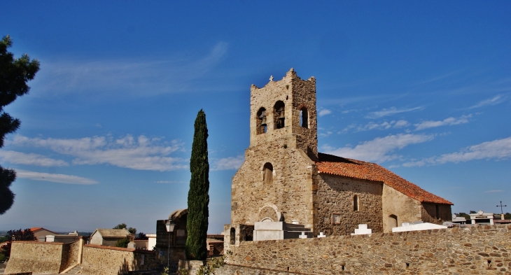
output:
[[[226,249],[262,235],[289,238],[297,233],[290,225],[299,233],[314,230],[316,79],[302,80],[290,69],[281,80],[252,85],[250,131],[245,160],[232,177]]]

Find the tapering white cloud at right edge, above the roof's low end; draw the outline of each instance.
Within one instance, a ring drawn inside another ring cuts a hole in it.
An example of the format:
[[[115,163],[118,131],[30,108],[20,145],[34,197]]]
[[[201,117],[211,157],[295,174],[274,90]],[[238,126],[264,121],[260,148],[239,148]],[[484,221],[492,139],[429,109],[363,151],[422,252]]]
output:
[[[505,160],[511,157],[511,136],[506,139],[486,141],[469,146],[456,153],[428,157],[415,162],[405,162],[404,167],[421,167],[425,165],[444,164],[447,162],[469,162],[471,160]]]

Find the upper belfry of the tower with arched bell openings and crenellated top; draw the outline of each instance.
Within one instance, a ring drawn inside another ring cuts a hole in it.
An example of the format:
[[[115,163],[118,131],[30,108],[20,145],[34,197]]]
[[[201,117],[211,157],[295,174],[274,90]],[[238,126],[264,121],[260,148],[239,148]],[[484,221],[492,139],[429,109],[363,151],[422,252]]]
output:
[[[281,80],[251,86],[250,147],[283,141],[318,157],[316,78],[302,80],[293,68]]]

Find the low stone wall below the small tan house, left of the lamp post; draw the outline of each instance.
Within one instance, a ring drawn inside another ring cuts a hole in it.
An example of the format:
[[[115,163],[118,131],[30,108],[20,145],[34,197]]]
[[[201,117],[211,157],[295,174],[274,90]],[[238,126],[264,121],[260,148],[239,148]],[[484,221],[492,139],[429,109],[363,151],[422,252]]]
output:
[[[119,275],[155,268],[155,251],[85,244],[83,274]]]

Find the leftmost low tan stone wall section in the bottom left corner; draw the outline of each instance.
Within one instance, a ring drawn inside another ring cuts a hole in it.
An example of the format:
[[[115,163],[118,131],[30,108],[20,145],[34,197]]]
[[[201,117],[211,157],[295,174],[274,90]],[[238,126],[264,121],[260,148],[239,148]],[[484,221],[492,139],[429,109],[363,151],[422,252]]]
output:
[[[61,272],[62,243],[38,241],[13,241],[6,274],[33,272]]]

